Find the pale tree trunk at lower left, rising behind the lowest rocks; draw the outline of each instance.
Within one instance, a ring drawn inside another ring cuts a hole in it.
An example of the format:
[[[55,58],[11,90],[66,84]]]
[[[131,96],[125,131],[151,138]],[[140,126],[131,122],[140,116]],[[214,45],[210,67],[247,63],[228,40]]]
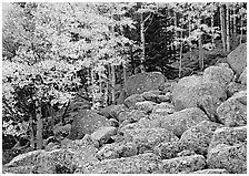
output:
[[[37,149],[42,149],[42,117],[41,117],[41,102],[36,101],[37,108]]]

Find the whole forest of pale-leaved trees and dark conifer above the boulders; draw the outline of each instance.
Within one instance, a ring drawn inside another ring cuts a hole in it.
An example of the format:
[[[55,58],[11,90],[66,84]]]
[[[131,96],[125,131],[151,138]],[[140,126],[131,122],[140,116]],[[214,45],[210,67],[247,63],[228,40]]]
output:
[[[246,34],[246,2],[2,3],[2,149],[42,149],[73,108],[118,104],[129,76],[200,74]]]

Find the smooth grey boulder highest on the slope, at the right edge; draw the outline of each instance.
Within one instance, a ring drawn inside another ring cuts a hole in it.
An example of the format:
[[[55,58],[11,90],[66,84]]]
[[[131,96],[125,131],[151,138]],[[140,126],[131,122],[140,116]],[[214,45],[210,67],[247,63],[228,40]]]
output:
[[[228,54],[228,63],[236,74],[240,75],[247,66],[247,43],[240,44]]]

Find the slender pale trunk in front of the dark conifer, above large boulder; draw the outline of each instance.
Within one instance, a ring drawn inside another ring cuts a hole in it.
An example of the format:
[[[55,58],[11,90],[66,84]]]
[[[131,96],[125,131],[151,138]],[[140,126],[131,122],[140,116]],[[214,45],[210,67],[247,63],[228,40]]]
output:
[[[141,54],[141,60],[140,60],[140,70],[141,72],[146,72],[145,68],[145,61],[146,61],[146,40],[145,40],[145,21],[142,13],[140,14],[140,35],[141,35],[141,49],[142,49],[142,54]]]

